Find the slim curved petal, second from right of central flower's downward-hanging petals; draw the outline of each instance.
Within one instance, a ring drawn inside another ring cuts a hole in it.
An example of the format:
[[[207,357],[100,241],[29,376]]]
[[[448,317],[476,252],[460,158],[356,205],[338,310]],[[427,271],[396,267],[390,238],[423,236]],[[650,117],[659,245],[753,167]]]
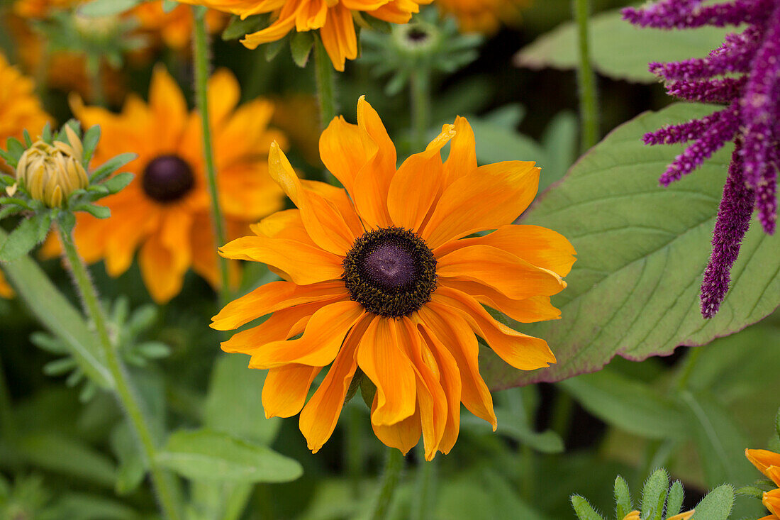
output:
[[[420,338],[424,341],[424,347],[434,357],[438,366],[438,380],[441,388],[444,390],[447,398],[447,420],[444,430],[441,433],[441,440],[438,442],[438,450],[443,454],[448,454],[455,446],[460,433],[460,399],[461,383],[460,372],[455,358],[450,351],[441,344],[441,341],[425,326],[418,322],[417,329],[420,331]]]

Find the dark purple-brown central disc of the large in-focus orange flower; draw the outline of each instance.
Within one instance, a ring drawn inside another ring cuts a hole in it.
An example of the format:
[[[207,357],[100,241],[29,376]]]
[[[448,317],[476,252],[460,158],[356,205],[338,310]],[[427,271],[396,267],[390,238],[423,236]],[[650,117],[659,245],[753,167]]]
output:
[[[433,251],[425,240],[399,227],[363,234],[343,265],[343,280],[352,299],[377,315],[410,315],[430,301],[436,289]]]

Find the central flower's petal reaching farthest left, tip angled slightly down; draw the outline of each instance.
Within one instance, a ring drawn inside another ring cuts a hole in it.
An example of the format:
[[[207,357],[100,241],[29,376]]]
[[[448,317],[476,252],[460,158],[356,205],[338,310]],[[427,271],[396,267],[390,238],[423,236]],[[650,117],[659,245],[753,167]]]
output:
[[[236,298],[212,318],[211,327],[232,330],[253,319],[283,308],[314,301],[349,296],[343,282],[324,282],[314,285],[296,285],[292,282],[271,282],[242,297]]]

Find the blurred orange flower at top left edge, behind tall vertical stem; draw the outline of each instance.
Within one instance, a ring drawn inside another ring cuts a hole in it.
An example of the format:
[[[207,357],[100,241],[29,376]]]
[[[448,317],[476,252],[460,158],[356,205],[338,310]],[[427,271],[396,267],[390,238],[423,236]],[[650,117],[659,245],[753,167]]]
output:
[[[128,12],[135,16],[139,30],[158,36],[170,48],[177,51],[187,50],[193,34],[193,12],[186,5],[179,5],[170,12],[162,9],[162,2],[144,2]],[[206,13],[206,27],[211,33],[217,33],[225,27],[227,16],[223,12],[209,10]]]

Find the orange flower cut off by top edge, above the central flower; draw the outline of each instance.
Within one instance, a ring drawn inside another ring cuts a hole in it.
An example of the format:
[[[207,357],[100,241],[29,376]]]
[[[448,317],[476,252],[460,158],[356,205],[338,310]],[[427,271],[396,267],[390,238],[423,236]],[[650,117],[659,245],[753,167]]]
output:
[[[186,4],[206,5],[232,12],[242,18],[272,12],[275,22],[264,30],[247,34],[241,41],[246,48],[277,41],[289,31],[320,30],[322,44],[333,66],[344,70],[347,59],[357,57],[357,36],[353,13],[365,12],[390,23],[406,23],[421,4],[432,0],[180,0]]]

